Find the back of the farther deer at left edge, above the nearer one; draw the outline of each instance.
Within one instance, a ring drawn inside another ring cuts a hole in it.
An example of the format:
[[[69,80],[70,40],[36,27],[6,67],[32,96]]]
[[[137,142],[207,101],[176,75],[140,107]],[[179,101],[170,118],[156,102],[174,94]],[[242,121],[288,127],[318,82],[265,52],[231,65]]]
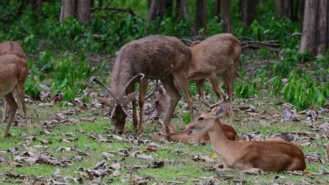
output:
[[[22,51],[22,47],[15,41],[4,41],[0,43],[0,55],[16,55],[26,60],[26,56]]]

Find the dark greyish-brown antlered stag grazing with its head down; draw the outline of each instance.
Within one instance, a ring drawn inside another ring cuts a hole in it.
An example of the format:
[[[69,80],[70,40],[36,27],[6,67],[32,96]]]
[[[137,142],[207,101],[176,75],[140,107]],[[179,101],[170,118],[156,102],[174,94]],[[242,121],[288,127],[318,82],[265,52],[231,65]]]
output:
[[[108,90],[111,99],[100,99],[112,107],[112,122],[115,132],[124,131],[126,110],[129,102],[133,103],[133,126],[137,128],[135,83],[139,83],[139,124],[138,133],[143,131],[143,104],[146,96],[148,79],[160,79],[164,88],[170,95],[170,106],[164,116],[164,126],[169,133],[169,121],[174,109],[179,102],[179,92],[174,85],[174,80],[179,83],[189,105],[193,117],[193,99],[188,92],[188,67],[191,61],[191,50],[179,39],[172,36],[147,36],[143,39],[131,41],[124,45],[118,52],[111,74],[110,87],[101,83],[97,78],[91,78]],[[125,96],[126,95],[126,96]]]

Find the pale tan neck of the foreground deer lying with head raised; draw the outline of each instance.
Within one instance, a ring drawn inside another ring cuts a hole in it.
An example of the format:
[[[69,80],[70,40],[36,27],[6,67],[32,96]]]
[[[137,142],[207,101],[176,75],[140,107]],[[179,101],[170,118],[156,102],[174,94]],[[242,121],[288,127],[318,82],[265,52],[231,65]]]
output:
[[[216,151],[222,158],[227,158],[232,156],[232,146],[236,143],[228,139],[221,128],[221,121],[217,119],[214,123],[214,128],[208,131],[210,142],[212,144],[212,149]]]

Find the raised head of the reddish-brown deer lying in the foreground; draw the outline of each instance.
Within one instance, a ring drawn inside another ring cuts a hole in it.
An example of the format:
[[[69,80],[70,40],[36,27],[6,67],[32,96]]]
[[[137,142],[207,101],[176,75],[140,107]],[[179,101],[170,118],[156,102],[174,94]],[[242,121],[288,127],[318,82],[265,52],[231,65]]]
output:
[[[214,128],[214,124],[217,124],[216,121],[220,116],[224,116],[230,107],[230,103],[226,101],[221,101],[217,107],[212,107],[202,113],[198,118],[195,118],[195,121],[188,124],[188,127],[184,131],[190,130],[188,135],[195,135],[200,132],[207,132]]]

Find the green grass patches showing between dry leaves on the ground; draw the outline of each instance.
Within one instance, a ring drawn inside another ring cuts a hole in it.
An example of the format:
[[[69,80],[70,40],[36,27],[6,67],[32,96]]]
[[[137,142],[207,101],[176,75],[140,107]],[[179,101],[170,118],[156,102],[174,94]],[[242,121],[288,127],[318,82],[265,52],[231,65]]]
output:
[[[237,104],[240,104],[238,101]],[[254,106],[256,109],[261,109],[262,106]],[[112,182],[114,184],[127,184],[132,183],[136,176],[148,179],[150,182],[158,182],[169,184],[169,181],[186,181],[186,184],[194,184],[193,179],[200,179],[200,177],[213,177],[216,172],[212,170],[207,170],[209,167],[216,165],[218,161],[213,163],[205,162],[195,162],[192,160],[193,154],[200,153],[204,156],[210,156],[213,152],[211,146],[209,145],[196,145],[195,144],[184,144],[184,143],[169,143],[169,144],[159,144],[157,146],[156,152],[146,152],[148,146],[145,144],[134,144],[130,142],[118,142],[115,139],[110,139],[108,142],[98,142],[98,139],[92,139],[87,135],[97,135],[97,134],[111,134],[110,131],[110,121],[101,114],[100,109],[86,109],[84,111],[77,112],[76,115],[67,116],[67,118],[82,118],[82,117],[96,117],[95,122],[79,122],[76,124],[58,124],[53,128],[47,128],[51,135],[44,135],[44,121],[52,120],[52,116],[60,111],[66,111],[67,109],[72,109],[72,107],[58,107],[54,105],[53,107],[39,107],[37,105],[30,104],[28,106],[28,111],[30,112],[30,125],[29,125],[29,135],[33,135],[36,139],[27,141],[22,138],[21,135],[25,133],[24,127],[22,125],[17,128],[11,129],[12,137],[1,138],[0,139],[0,151],[1,156],[10,163],[13,163],[13,158],[16,155],[20,155],[22,151],[30,150],[34,153],[39,153],[40,151],[48,151],[57,159],[69,159],[72,165],[68,167],[59,167],[53,165],[25,165],[22,167],[11,167],[8,164],[0,163],[0,172],[12,172],[13,174],[24,174],[29,178],[34,176],[44,177],[46,179],[53,178],[53,173],[56,172],[58,168],[63,176],[79,177],[78,172],[82,169],[91,168],[96,165],[96,163],[104,160],[105,157],[101,155],[102,152],[117,151],[118,149],[128,149],[129,147],[134,147],[134,151],[141,151],[146,155],[152,155],[155,160],[165,160],[164,167],[160,168],[147,168],[147,169],[137,169],[129,170],[126,168],[131,165],[147,165],[147,161],[139,158],[131,158],[130,156],[114,156],[112,158],[105,159],[108,164],[121,163],[122,168],[117,170],[122,174],[121,176],[112,177],[110,175],[105,176],[102,181],[107,184]],[[280,106],[270,105],[268,110],[276,110],[280,112]],[[258,131],[260,134],[264,135],[268,139],[271,135],[280,132],[295,132],[307,130],[314,134],[323,134],[319,131],[310,130],[304,123],[295,123],[290,121],[273,121],[264,120],[257,116],[250,116],[245,112],[236,112],[233,118],[224,118],[226,123],[233,125],[237,132],[254,132]],[[324,121],[324,120],[321,120]],[[176,130],[183,126],[183,121],[181,118],[174,118],[172,121],[176,125]],[[143,139],[150,139],[150,135],[153,132],[157,132],[160,129],[158,123],[146,123],[144,130],[146,135],[143,135]],[[0,132],[3,132],[4,125],[0,126]],[[126,123],[127,132],[134,132],[131,128],[131,123]],[[84,132],[83,132],[84,131]],[[70,143],[61,142],[61,138],[65,133],[72,133],[73,137],[77,139]],[[41,144],[40,140],[47,139],[51,144]],[[314,145],[302,146],[304,153],[318,152],[318,155],[324,159],[324,144],[323,139],[316,139]],[[34,149],[33,146],[41,144],[48,146],[46,149]],[[77,149],[84,151],[89,154],[89,156],[82,156],[82,160],[73,160],[72,158],[77,156],[77,151],[61,151],[58,152],[56,149],[60,146],[72,147],[77,146]],[[18,147],[18,154],[5,153],[8,149],[13,147]],[[320,167],[325,167],[328,169],[328,165],[321,163],[308,163],[307,170],[312,172],[318,172]],[[293,182],[295,184],[301,184],[302,181],[309,182],[328,182],[328,176],[325,175],[293,175],[287,174],[285,172],[281,173],[271,173],[271,174],[243,174],[237,171],[224,171],[225,175],[233,175],[232,179],[224,180],[219,177],[221,184],[235,184],[237,181],[242,181],[243,184],[280,184],[284,182]],[[284,178],[278,178],[277,176],[283,176]],[[85,179],[84,183],[90,181]],[[22,181],[17,179],[7,179],[0,176],[0,183],[2,184],[22,184]]]

